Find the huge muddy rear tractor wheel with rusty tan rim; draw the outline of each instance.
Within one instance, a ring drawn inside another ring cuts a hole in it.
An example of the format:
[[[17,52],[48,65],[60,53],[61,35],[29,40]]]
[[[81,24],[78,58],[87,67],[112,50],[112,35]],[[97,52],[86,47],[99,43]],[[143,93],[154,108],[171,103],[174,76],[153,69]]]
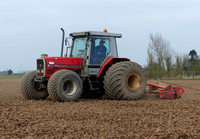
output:
[[[104,76],[104,89],[112,99],[140,99],[146,89],[145,73],[137,63],[130,61],[116,63]]]

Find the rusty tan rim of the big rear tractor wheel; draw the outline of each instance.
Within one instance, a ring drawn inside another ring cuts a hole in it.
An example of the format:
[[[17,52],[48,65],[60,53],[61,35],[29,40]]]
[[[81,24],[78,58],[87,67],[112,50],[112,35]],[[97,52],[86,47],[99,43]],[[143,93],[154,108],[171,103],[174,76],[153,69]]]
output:
[[[130,91],[137,91],[140,88],[140,77],[134,73],[129,74],[126,84]]]

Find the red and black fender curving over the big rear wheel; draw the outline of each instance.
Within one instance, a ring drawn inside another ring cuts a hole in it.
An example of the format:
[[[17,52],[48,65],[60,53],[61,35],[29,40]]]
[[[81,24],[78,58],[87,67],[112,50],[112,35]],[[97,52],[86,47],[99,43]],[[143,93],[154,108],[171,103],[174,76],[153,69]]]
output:
[[[121,61],[130,61],[130,59],[119,58],[119,57],[108,57],[106,61],[104,62],[104,64],[101,66],[97,77],[103,77],[110,66]]]

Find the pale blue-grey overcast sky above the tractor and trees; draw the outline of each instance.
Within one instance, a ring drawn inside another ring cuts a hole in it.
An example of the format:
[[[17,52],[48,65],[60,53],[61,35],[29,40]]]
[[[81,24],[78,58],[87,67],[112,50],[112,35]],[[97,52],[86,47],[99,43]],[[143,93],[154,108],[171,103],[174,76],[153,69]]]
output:
[[[42,53],[59,56],[61,31],[122,33],[120,57],[147,64],[149,33],[180,54],[200,54],[199,0],[0,0],[0,71],[36,69]]]

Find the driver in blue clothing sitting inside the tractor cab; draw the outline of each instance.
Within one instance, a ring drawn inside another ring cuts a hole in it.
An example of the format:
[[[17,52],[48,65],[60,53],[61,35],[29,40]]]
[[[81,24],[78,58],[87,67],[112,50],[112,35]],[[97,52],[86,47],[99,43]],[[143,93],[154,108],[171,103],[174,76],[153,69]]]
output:
[[[101,40],[99,45],[95,47],[95,64],[101,64],[106,57],[105,41]]]

